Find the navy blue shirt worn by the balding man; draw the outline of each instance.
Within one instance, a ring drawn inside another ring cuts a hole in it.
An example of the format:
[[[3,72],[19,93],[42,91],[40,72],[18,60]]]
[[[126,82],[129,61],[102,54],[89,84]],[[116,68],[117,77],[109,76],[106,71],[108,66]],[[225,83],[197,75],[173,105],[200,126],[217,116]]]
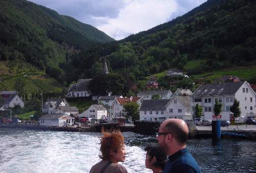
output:
[[[163,173],[189,173],[189,172],[201,172],[194,157],[188,152],[187,148],[183,148],[168,157],[168,161],[163,169]]]

